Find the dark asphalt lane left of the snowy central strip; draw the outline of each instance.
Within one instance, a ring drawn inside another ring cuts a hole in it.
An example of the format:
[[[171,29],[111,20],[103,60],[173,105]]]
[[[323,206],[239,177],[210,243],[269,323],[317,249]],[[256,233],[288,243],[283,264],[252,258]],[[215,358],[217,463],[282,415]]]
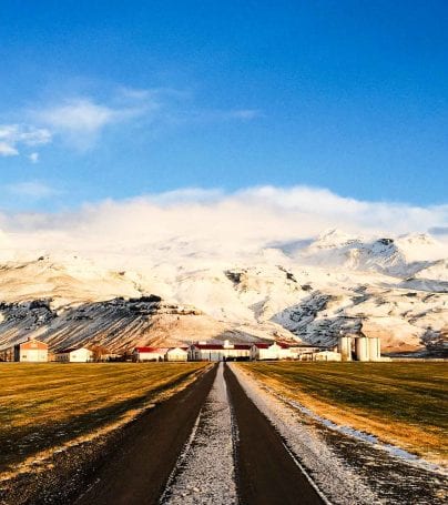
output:
[[[215,375],[216,367],[129,426],[120,446],[90,476],[88,492],[74,503],[157,503]]]

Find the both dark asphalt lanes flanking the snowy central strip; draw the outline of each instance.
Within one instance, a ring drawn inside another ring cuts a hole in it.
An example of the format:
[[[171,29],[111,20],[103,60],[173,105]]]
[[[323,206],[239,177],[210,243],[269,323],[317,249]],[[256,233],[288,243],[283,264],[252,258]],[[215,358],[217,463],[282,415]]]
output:
[[[90,476],[88,491],[74,503],[157,504],[205,404],[216,370],[215,366],[130,426],[120,445]],[[224,377],[238,432],[234,478],[240,504],[320,505],[322,498],[286,451],[278,433],[227,366]],[[205,502],[200,495],[193,503],[220,505]]]

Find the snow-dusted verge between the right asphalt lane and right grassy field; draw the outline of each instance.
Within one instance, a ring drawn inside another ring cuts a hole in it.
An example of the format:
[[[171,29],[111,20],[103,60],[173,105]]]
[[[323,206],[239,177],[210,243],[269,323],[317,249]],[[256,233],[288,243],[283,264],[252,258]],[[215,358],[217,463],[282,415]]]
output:
[[[317,365],[316,365],[317,366]],[[448,478],[442,468],[413,459],[413,455],[378,444],[315,414],[298,402],[266,386],[235,366],[247,394],[285,438],[319,488],[334,504],[445,505]],[[252,393],[251,393],[252,392]],[[405,457],[406,456],[406,457]],[[353,497],[353,485],[359,492]],[[366,493],[367,489],[367,493]],[[370,496],[369,496],[370,495]]]

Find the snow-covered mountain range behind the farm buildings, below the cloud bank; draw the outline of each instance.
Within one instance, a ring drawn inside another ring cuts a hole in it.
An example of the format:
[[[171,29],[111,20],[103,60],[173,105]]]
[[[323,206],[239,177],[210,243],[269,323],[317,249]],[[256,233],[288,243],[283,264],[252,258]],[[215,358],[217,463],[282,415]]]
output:
[[[89,257],[0,254],[0,350],[30,335],[52,349],[92,342],[120,352],[228,337],[332,344],[362,326],[384,351],[418,350],[448,325],[444,253],[429,235],[333,230],[240,254],[181,238]]]

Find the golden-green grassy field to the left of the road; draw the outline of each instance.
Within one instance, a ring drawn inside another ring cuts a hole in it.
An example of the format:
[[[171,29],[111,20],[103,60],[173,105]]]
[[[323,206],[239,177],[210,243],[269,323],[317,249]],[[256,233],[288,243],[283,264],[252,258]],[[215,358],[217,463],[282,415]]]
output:
[[[0,364],[0,474],[132,417],[202,363]]]

